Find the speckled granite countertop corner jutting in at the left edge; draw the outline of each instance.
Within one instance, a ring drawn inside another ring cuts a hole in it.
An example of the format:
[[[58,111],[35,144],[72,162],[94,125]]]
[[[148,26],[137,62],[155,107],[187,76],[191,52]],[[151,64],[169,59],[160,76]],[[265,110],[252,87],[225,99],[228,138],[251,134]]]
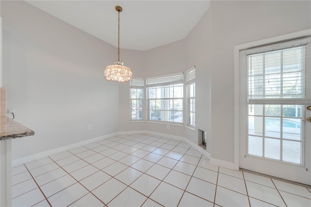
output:
[[[35,132],[26,126],[8,117],[0,118],[0,140],[21,138],[35,135]]]

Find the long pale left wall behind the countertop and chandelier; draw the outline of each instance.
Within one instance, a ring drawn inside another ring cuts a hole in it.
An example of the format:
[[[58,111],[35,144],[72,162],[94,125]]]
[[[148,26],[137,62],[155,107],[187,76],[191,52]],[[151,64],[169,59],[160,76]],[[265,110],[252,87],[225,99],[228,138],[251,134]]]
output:
[[[104,79],[115,47],[24,1],[1,0],[1,17],[7,106],[35,131],[12,159],[118,131],[119,85]]]

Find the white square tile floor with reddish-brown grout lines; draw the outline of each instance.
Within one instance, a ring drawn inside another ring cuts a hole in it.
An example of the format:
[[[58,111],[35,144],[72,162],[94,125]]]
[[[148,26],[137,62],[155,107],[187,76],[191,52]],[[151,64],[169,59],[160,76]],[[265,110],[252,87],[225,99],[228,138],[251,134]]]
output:
[[[12,205],[311,207],[311,189],[209,163],[187,142],[120,135],[12,168]]]

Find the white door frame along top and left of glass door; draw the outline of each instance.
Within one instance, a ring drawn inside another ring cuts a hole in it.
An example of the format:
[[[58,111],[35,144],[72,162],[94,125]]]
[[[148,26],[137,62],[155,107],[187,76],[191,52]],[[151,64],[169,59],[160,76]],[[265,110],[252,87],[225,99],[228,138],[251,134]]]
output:
[[[240,167],[240,51],[311,35],[311,28],[234,46],[234,170]]]

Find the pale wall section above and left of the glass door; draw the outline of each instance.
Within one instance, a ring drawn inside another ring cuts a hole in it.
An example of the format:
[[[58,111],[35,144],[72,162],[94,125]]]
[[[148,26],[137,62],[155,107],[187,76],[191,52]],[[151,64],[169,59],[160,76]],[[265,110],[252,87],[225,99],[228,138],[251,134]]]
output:
[[[211,1],[211,157],[233,163],[235,45],[311,28],[311,1]]]

